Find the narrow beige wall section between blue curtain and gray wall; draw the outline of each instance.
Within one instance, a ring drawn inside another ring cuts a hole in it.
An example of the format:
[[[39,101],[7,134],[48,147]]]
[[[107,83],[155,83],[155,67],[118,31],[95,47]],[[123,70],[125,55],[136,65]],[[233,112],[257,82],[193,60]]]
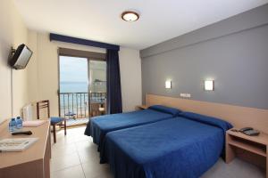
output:
[[[119,52],[123,111],[141,104],[141,61],[138,50],[121,47]]]

